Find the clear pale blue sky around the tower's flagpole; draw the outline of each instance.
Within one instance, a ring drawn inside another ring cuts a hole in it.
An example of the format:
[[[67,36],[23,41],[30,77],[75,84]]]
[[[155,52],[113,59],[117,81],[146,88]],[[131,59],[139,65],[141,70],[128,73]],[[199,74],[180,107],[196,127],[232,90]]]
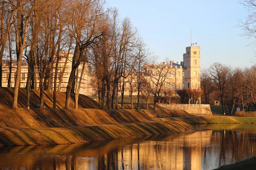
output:
[[[116,7],[120,18],[129,17],[148,48],[159,56],[182,61],[192,41],[201,47],[201,68],[213,62],[232,67],[250,67],[255,63],[253,39],[241,37],[237,18],[247,15],[236,0],[107,0]]]

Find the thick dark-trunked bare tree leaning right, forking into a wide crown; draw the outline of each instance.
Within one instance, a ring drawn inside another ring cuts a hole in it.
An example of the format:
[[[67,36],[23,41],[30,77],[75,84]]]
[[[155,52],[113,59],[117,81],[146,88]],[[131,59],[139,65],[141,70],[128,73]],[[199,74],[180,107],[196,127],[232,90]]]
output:
[[[76,69],[84,60],[85,49],[96,39],[102,36],[104,23],[101,16],[104,13],[102,0],[70,0],[70,35],[75,38],[76,48],[73,54],[72,69],[67,84],[65,108],[70,107],[70,93]]]

